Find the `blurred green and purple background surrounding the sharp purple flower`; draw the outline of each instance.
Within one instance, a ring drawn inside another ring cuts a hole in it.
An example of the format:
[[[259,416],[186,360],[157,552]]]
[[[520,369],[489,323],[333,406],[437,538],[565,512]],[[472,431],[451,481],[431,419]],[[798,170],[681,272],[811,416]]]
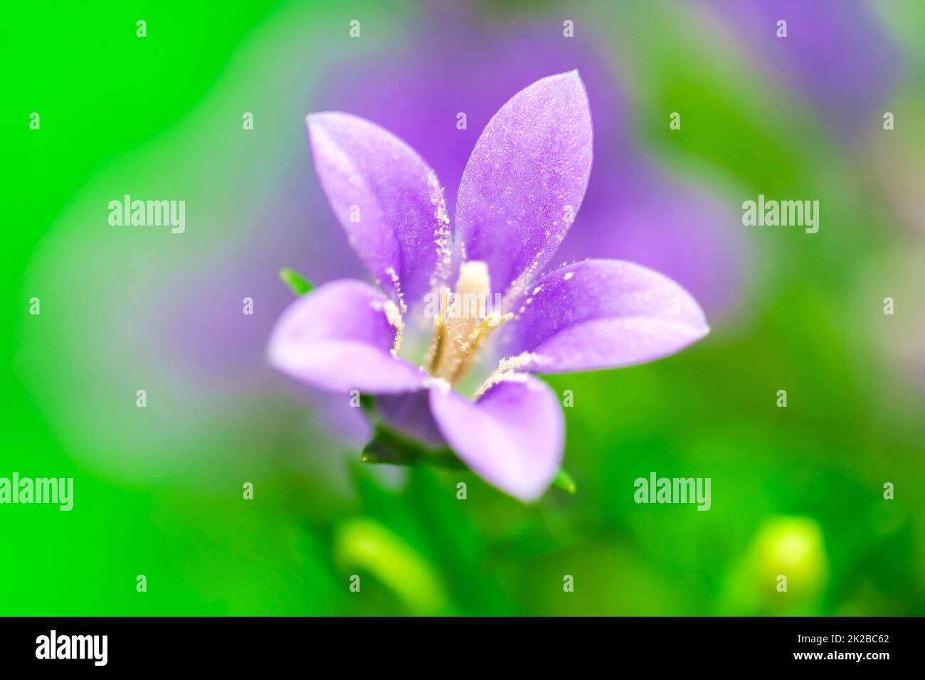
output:
[[[0,506],[0,614],[925,613],[918,0],[2,12],[0,476],[73,476],[75,506]],[[712,333],[549,379],[574,394],[573,496],[525,506],[469,474],[360,464],[346,399],[265,365],[280,267],[364,276],[304,115],[395,131],[452,203],[488,117],[572,68],[595,161],[556,264],[657,268]],[[185,200],[186,232],[109,226],[126,193]],[[819,200],[819,233],[743,227],[759,193]],[[711,510],[636,505],[651,471],[709,476]]]

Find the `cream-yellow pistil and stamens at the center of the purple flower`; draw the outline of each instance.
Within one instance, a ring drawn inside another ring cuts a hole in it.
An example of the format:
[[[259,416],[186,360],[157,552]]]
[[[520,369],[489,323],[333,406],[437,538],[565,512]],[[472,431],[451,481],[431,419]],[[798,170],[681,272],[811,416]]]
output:
[[[450,385],[462,380],[487,337],[513,317],[494,308],[490,288],[488,266],[474,261],[460,267],[455,294],[448,289],[440,291],[434,340],[425,359],[430,375]]]

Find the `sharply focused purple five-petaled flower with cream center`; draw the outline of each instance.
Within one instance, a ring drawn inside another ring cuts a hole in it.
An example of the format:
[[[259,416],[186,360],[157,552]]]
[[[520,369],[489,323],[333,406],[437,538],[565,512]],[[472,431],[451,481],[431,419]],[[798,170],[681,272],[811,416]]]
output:
[[[296,300],[272,332],[271,364],[322,389],[381,395],[387,418],[512,496],[538,498],[561,465],[559,399],[531,373],[639,364],[709,332],[694,299],[643,266],[585,260],[541,273],[591,170],[576,71],[537,80],[491,118],[462,173],[454,229],[436,174],[407,144],[349,114],[307,122],[318,178],[376,287],[338,280]],[[499,304],[461,314],[467,296]],[[460,389],[480,370],[472,401]]]

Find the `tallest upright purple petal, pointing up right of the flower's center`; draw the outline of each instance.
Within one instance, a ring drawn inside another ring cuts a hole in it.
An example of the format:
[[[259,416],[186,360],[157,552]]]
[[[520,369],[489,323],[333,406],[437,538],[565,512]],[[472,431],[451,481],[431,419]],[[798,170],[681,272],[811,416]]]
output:
[[[591,172],[591,113],[577,71],[549,76],[501,106],[469,156],[455,226],[493,291],[532,278],[565,234]]]

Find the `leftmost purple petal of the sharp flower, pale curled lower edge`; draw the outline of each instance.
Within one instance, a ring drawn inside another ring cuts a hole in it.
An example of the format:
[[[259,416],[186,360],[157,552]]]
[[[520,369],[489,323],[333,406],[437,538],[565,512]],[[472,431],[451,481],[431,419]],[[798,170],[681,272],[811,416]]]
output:
[[[363,281],[332,281],[302,295],[273,328],[270,364],[331,391],[394,394],[420,389],[426,374],[392,355],[395,304]]]

